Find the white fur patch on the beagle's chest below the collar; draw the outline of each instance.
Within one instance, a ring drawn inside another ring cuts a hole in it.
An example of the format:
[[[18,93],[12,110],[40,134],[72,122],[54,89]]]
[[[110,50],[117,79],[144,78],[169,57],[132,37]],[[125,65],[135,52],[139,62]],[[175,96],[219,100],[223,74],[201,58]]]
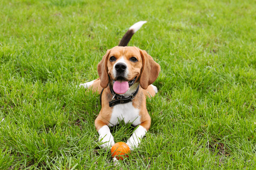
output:
[[[139,111],[132,106],[132,102],[113,106],[109,126],[117,125],[119,120],[124,120],[125,124],[133,122],[132,125],[137,126],[141,123]]]

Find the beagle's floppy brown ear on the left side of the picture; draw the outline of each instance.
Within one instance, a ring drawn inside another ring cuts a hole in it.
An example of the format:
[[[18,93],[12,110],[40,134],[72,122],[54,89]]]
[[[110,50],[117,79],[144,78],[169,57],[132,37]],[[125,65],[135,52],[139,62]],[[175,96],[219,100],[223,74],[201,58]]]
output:
[[[99,62],[97,66],[98,74],[100,77],[100,86],[102,88],[108,87],[109,84],[109,76],[108,76],[108,58],[109,58],[110,50],[102,57],[102,60]]]

